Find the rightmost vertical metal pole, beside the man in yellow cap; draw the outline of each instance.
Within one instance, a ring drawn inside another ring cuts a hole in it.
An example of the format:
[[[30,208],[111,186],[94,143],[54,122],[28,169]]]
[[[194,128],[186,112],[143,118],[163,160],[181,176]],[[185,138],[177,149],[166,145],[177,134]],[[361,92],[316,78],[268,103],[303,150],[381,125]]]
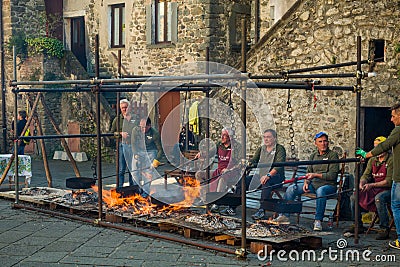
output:
[[[357,36],[357,88],[356,88],[356,146],[360,147],[360,131],[361,131],[361,36]],[[356,164],[355,177],[354,177],[354,188],[355,188],[355,205],[354,205],[354,244],[358,244],[358,230],[359,230],[359,182],[360,182],[360,164]]]

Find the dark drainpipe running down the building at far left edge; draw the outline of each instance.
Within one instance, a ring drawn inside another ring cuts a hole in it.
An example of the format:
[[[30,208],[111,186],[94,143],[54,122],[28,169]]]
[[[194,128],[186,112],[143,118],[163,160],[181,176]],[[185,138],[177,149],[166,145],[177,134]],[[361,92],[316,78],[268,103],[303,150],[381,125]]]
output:
[[[3,144],[1,153],[7,153],[7,117],[6,117],[6,78],[4,68],[4,25],[3,25],[3,1],[0,1],[0,76],[1,76],[1,121],[3,131]]]

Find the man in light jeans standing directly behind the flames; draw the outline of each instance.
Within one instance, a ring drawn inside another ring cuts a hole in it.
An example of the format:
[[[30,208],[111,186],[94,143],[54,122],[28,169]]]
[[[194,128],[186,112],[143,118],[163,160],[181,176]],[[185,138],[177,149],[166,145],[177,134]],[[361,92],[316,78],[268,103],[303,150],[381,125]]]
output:
[[[154,168],[163,157],[160,133],[151,127],[150,118],[140,119],[139,126],[132,129],[133,175],[136,182],[144,182],[142,196],[150,194]]]

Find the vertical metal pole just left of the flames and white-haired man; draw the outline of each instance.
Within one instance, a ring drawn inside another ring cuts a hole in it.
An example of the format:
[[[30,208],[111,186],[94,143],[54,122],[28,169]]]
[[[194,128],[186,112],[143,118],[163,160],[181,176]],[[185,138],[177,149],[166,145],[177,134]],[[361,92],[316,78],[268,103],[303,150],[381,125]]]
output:
[[[96,51],[95,51],[95,68],[96,68],[96,78],[99,78],[99,35],[96,35]],[[101,129],[100,129],[100,86],[97,84],[95,88],[95,96],[96,96],[96,140],[97,140],[97,185],[99,187],[98,196],[99,196],[99,215],[98,219],[102,219],[103,215],[103,181],[102,181],[102,173],[101,173]]]

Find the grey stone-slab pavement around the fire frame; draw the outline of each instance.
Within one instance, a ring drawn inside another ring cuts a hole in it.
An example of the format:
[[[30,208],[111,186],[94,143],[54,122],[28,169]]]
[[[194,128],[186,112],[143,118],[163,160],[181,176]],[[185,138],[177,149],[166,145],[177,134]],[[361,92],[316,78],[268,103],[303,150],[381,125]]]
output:
[[[32,186],[47,186],[42,163],[32,163]],[[90,162],[78,163],[82,176],[91,177]],[[74,177],[68,162],[50,161],[54,187],[65,188],[65,178]],[[115,173],[113,164],[103,164],[103,176]],[[114,179],[114,178],[109,178]],[[112,182],[112,180],[110,180]],[[12,201],[0,199],[0,266],[395,266],[400,251],[389,249],[388,241],[376,241],[374,234],[360,235],[359,244],[352,238],[343,238],[341,232],[350,222],[340,222],[331,235],[323,237],[323,248],[315,251],[316,259],[298,260],[296,251],[287,250],[273,260],[259,260],[249,254],[246,260],[234,255],[197,248],[176,242],[156,239],[121,230],[51,217],[46,214],[12,209]],[[253,211],[249,211],[251,214]],[[311,221],[301,219],[304,226]],[[164,234],[164,233],[163,233]],[[168,235],[168,233],[165,233]],[[392,232],[391,237],[394,238]],[[346,243],[345,248],[338,249]],[[201,240],[196,240],[203,242]],[[206,241],[204,241],[206,242]],[[320,257],[322,250],[328,250]],[[328,252],[331,251],[331,255]],[[366,258],[363,252],[371,251]],[[360,260],[346,253],[359,253]],[[289,254],[290,253],[290,254]],[[318,260],[318,258],[320,259]],[[337,257],[335,259],[335,257]],[[377,258],[379,257],[379,258]],[[287,261],[283,261],[287,259]],[[366,260],[371,260],[367,262]],[[378,261],[380,260],[380,261]]]

